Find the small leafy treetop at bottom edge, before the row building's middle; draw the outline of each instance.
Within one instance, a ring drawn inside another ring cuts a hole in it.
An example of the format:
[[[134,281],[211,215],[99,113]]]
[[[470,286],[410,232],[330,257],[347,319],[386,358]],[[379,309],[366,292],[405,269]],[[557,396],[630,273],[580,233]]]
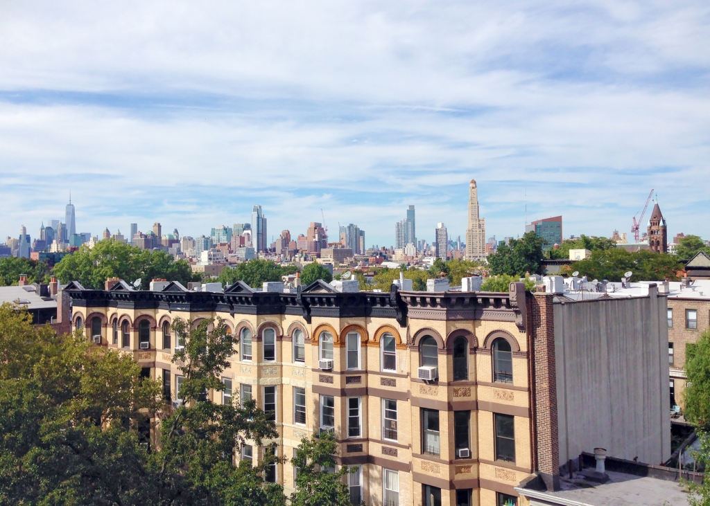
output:
[[[355,472],[356,468],[342,468],[337,473],[328,473],[327,467],[335,467],[333,455],[338,449],[333,434],[311,439],[302,439],[291,461],[298,468],[295,485],[291,494],[291,506],[351,506],[348,486],[343,476]]]

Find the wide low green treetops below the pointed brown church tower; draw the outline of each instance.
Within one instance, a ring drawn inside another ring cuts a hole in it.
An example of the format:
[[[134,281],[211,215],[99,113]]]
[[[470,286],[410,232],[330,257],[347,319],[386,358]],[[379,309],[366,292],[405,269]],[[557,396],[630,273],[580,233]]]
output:
[[[594,250],[589,258],[572,262],[564,273],[579,271],[580,276],[590,280],[621,281],[623,274],[631,271],[631,281],[677,281],[677,271],[682,269],[683,265],[672,254],[654,253],[647,249],[628,252],[623,248],[612,248]]]

